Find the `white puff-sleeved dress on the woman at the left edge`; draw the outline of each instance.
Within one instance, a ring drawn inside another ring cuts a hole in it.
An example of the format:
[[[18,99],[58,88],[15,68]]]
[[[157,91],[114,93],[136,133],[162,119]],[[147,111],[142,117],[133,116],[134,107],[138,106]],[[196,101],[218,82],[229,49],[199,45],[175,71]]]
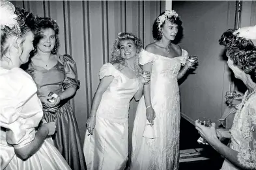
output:
[[[70,169],[51,138],[46,138],[27,160],[16,156],[14,148],[25,147],[35,139],[36,127],[43,116],[42,104],[36,96],[35,82],[22,69],[0,67],[0,82],[1,169]]]

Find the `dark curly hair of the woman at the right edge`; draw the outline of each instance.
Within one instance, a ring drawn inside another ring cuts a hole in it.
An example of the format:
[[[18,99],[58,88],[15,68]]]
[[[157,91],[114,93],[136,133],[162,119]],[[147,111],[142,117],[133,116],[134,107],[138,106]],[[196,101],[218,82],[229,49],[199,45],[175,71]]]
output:
[[[256,82],[256,47],[251,40],[246,40],[233,34],[235,29],[224,32],[219,40],[220,45],[227,49],[234,65],[242,69]]]

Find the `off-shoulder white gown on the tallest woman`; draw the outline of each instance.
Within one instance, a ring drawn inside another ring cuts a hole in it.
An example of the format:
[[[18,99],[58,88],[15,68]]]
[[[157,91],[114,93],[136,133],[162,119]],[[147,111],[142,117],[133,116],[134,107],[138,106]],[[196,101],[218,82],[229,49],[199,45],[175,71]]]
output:
[[[178,169],[180,138],[180,92],[178,72],[186,63],[188,52],[182,49],[182,56],[167,58],[141,51],[139,64],[152,63],[150,96],[154,119],[154,138],[145,138],[147,124],[144,97],[137,106],[132,133],[133,170],[175,170]]]

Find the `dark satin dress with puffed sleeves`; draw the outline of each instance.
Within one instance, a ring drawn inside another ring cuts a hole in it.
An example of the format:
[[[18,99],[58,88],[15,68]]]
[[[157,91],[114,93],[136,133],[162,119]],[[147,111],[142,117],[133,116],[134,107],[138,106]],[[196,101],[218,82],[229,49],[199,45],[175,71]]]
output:
[[[51,91],[59,95],[67,88],[79,86],[76,62],[69,55],[57,55],[57,64],[49,70],[31,62],[26,71],[36,83],[38,97],[48,96]],[[52,110],[43,104],[43,111],[47,122],[56,123],[56,132],[52,138],[66,162],[74,170],[86,169],[78,124],[68,100],[61,101]]]

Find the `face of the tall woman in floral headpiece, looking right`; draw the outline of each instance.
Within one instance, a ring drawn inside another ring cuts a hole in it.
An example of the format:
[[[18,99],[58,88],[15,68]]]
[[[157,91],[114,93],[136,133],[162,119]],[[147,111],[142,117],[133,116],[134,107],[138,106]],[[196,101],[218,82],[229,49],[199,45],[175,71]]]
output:
[[[178,25],[171,23],[169,20],[165,20],[165,24],[162,27],[163,37],[167,40],[174,40],[178,32]]]

